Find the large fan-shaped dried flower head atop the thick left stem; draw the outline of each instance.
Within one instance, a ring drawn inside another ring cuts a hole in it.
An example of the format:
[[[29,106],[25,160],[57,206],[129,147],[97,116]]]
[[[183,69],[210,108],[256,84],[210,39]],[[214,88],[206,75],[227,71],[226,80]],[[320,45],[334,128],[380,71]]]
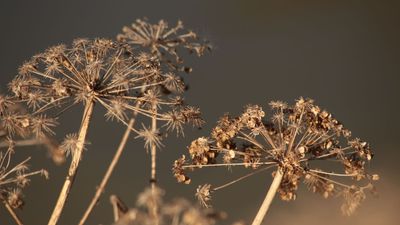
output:
[[[71,47],[54,46],[32,57],[10,88],[34,115],[50,110],[58,115],[76,103],[94,101],[122,121],[121,111],[137,100],[135,91],[157,85],[161,77],[157,60],[150,56],[134,57],[107,39],[77,39]]]

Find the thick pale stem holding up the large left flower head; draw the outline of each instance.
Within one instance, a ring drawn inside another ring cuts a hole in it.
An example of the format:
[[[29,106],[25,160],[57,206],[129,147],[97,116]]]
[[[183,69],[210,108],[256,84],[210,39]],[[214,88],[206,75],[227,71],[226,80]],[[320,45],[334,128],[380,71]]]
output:
[[[81,122],[81,128],[79,130],[79,135],[78,135],[78,143],[75,151],[72,154],[72,161],[68,170],[68,175],[65,178],[64,185],[61,189],[60,195],[58,197],[56,206],[54,207],[48,225],[57,224],[61,212],[64,208],[65,202],[67,201],[69,192],[71,190],[72,184],[76,176],[76,172],[78,171],[79,162],[82,157],[83,148],[86,140],[86,134],[88,132],[90,119],[92,118],[93,107],[94,107],[94,102],[92,99],[89,99],[85,105],[85,110]]]

